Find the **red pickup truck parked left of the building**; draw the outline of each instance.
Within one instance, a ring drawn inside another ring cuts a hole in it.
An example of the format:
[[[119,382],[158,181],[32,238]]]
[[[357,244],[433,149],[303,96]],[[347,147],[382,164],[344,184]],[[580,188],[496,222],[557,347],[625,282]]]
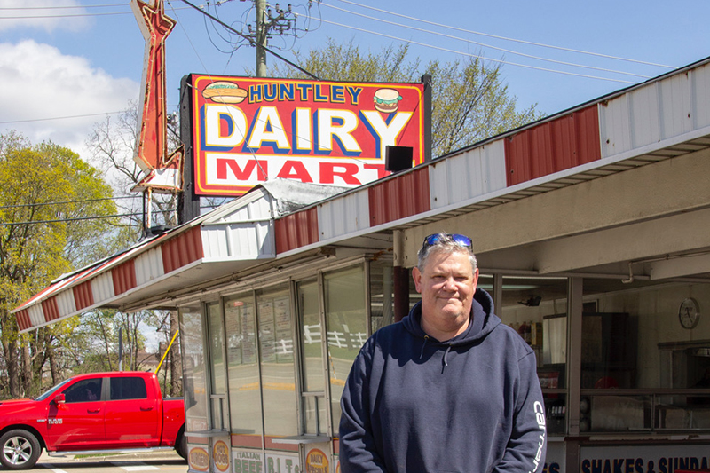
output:
[[[33,399],[0,402],[0,462],[31,469],[54,456],[175,449],[186,457],[185,405],[153,373],[79,374]]]

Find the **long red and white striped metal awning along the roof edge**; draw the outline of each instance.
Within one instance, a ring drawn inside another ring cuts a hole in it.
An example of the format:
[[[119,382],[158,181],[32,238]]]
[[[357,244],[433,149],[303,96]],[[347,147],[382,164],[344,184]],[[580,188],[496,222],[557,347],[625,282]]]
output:
[[[206,272],[461,215],[710,147],[710,58],[280,215],[264,189],[55,281],[20,330],[188,288]],[[268,183],[267,183],[268,184]],[[302,202],[303,203],[303,202]],[[239,264],[237,264],[239,263]],[[221,265],[220,265],[221,264]]]

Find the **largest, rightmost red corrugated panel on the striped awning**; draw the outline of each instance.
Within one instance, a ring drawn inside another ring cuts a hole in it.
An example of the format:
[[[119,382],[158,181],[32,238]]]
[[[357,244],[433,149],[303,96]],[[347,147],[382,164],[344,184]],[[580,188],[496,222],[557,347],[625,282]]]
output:
[[[602,158],[596,104],[503,138],[508,185]]]

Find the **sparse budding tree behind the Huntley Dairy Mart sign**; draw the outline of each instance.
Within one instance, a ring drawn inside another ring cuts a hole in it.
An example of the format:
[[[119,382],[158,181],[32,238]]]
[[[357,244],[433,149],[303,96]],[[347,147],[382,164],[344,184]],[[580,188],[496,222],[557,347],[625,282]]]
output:
[[[303,55],[296,64],[323,80],[359,82],[419,82],[432,78],[432,154],[441,156],[503,131],[541,118],[530,106],[517,110],[517,99],[503,83],[501,66],[480,59],[442,63],[408,59],[408,45],[388,46],[379,53],[359,50],[350,42],[329,39],[321,49]],[[270,67],[273,77],[308,78],[285,64]]]

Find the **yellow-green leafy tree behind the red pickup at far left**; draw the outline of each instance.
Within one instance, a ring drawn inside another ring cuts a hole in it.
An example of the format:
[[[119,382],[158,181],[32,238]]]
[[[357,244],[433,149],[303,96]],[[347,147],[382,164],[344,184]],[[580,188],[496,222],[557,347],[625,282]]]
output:
[[[71,358],[64,346],[75,321],[21,335],[12,308],[63,272],[105,254],[101,236],[115,213],[101,173],[71,150],[32,145],[10,132],[0,135],[0,340],[4,395],[42,389],[45,363],[59,369]],[[52,377],[57,374],[52,371]]]

